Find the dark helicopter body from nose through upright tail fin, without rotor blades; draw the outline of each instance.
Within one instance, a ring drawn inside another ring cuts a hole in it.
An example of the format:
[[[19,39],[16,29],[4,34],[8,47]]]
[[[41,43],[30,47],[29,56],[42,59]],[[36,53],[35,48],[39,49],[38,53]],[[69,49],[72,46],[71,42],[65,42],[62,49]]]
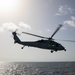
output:
[[[16,35],[17,33],[13,32],[13,39],[14,39],[14,43],[18,43],[21,44],[23,46],[30,46],[30,47],[37,47],[37,48],[42,48],[42,49],[48,49],[48,50],[54,50],[54,51],[58,51],[58,50],[65,50],[65,48],[52,40],[38,40],[38,41],[21,41],[18,36]],[[23,49],[23,47],[22,47]]]

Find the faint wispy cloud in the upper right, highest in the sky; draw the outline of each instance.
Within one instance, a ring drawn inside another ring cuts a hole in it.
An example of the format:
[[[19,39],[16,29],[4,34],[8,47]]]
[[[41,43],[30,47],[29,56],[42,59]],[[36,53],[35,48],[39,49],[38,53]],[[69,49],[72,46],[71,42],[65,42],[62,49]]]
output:
[[[59,6],[58,12],[55,15],[61,16],[61,15],[67,15],[73,12],[73,9],[69,7],[68,5],[65,6]]]

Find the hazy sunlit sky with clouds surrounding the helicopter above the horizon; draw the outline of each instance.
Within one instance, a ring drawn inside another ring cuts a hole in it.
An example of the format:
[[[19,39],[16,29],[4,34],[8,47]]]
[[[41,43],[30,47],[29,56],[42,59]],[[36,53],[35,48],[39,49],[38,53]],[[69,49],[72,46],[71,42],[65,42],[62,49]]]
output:
[[[56,40],[67,51],[54,53],[14,44],[11,31],[17,29],[22,41],[37,41],[41,38],[22,31],[50,37],[59,24],[63,27],[53,38],[75,40],[75,0],[0,0],[0,61],[75,61],[74,42]]]

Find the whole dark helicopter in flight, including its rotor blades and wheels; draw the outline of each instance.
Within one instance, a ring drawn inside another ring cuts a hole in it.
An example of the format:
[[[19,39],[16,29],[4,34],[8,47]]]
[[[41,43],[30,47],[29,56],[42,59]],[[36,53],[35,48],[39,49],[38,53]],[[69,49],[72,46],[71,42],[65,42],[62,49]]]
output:
[[[57,27],[57,29],[54,31],[54,33],[52,34],[51,37],[43,37],[43,36],[28,33],[28,32],[22,32],[23,34],[28,34],[28,35],[42,38],[41,40],[37,40],[37,41],[21,41],[19,39],[19,37],[17,36],[18,33],[16,33],[16,31],[14,31],[14,32],[12,32],[14,44],[18,43],[18,44],[23,45],[23,47],[21,47],[21,49],[23,49],[25,46],[28,46],[28,47],[37,47],[37,48],[41,48],[41,49],[45,49],[45,50],[51,50],[51,53],[53,53],[54,51],[55,52],[62,51],[62,50],[66,51],[64,46],[62,46],[60,43],[54,41],[56,39],[53,39],[53,36],[58,32],[58,30],[62,26],[63,25],[60,24]],[[75,42],[72,40],[61,40],[61,41]]]

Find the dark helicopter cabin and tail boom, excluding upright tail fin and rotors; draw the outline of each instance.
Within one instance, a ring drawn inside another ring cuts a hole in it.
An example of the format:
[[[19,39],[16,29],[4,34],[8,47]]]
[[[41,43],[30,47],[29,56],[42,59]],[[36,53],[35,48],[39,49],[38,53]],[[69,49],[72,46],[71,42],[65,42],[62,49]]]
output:
[[[39,40],[39,41],[34,41],[34,42],[21,42],[20,44],[24,46],[30,46],[30,47],[37,47],[37,48],[42,48],[42,49],[51,49],[51,50],[64,50],[65,48],[54,41],[48,41],[48,40]]]

